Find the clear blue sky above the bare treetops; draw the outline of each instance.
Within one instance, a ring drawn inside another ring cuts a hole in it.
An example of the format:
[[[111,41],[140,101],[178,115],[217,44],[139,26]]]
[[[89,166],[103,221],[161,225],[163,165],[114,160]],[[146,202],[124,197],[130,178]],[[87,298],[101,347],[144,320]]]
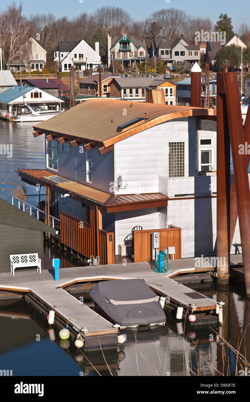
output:
[[[0,10],[12,4],[13,0],[1,1]],[[19,4],[19,1],[16,1]],[[104,5],[119,6],[129,11],[134,18],[145,18],[150,12],[160,10],[161,8],[181,8],[194,16],[209,16],[215,23],[221,12],[228,14],[232,18],[234,30],[237,31],[241,23],[249,24],[250,1],[249,0],[213,0],[213,2],[203,2],[197,0],[22,0],[23,13],[25,15],[35,13],[52,12],[57,16],[67,15],[68,17],[77,15],[81,12],[93,12],[98,7]],[[236,6],[237,5],[237,6]]]

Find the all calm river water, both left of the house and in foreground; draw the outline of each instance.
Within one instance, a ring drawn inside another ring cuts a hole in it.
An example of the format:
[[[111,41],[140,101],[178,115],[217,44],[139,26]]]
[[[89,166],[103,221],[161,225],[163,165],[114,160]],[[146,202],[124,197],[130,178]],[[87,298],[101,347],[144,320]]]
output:
[[[34,138],[32,133],[31,123],[0,121],[0,144],[12,144],[13,153],[12,158],[0,155],[0,197],[6,201],[11,202],[10,191],[18,183],[22,183],[15,169],[45,168],[44,136]],[[26,187],[28,194],[35,195],[29,196],[27,201],[37,205],[35,188],[30,185]],[[45,254],[50,258],[61,256],[72,263],[71,256],[62,256],[55,246],[45,244]],[[72,265],[76,265],[75,261]],[[199,288],[199,291],[225,302],[224,337],[236,345],[238,337],[250,322],[250,302],[245,300],[240,287],[220,290],[215,288],[214,283],[208,283],[203,289]],[[78,293],[77,297],[79,296]],[[73,341],[69,343],[59,340],[56,329],[56,339],[51,341],[47,329],[47,321],[30,310],[22,300],[9,306],[0,303],[0,369],[12,369],[13,375],[17,376],[78,376],[80,373],[98,375],[74,347]],[[197,373],[197,361],[201,375],[216,374],[211,365],[223,372],[222,352],[226,346],[216,343],[216,334],[210,328],[185,328],[184,334],[178,334],[175,320],[169,318],[164,328],[135,334],[127,330],[124,333],[127,335],[127,341],[105,352],[114,375],[192,375],[191,370]],[[249,337],[248,332],[246,338]],[[185,364],[183,353],[187,362]],[[226,349],[224,356],[227,356]],[[250,342],[246,344],[246,357],[250,361]],[[89,353],[87,358],[101,375],[110,375],[101,353]],[[235,375],[236,359],[231,351],[228,353],[225,367],[230,367],[231,375]],[[224,371],[224,374],[227,375],[228,372]]]

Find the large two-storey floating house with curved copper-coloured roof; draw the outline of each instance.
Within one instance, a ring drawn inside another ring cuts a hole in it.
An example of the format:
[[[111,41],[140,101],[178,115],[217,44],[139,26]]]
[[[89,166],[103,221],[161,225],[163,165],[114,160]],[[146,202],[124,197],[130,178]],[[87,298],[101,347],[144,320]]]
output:
[[[96,98],[33,128],[46,168],[18,174],[45,186],[59,242],[102,264],[151,260],[154,231],[175,258],[216,254],[216,110]]]

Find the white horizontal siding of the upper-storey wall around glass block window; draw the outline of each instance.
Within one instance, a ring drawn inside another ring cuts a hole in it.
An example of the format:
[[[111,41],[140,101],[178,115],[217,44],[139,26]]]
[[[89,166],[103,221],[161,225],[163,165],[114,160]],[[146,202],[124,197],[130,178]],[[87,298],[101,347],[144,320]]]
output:
[[[168,144],[172,141],[185,141],[186,175],[194,175],[195,138],[195,118],[189,117],[161,123],[115,144],[115,180],[122,176],[127,184],[116,194],[129,194],[134,187],[140,188],[140,193],[158,192],[159,174],[168,174]]]

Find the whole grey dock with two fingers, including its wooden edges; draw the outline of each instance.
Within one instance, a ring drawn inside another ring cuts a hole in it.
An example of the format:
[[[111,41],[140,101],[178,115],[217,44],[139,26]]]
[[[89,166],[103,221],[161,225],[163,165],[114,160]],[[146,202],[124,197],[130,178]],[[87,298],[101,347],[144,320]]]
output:
[[[110,345],[117,336],[117,328],[105,318],[81,303],[63,288],[82,282],[112,280],[112,279],[144,279],[150,287],[159,295],[169,297],[176,306],[182,305],[187,310],[191,304],[195,304],[196,311],[215,309],[216,302],[192,289],[181,285],[171,279],[180,273],[199,273],[213,270],[195,268],[194,258],[181,260],[169,260],[167,273],[155,273],[153,263],[130,263],[100,265],[97,267],[75,267],[59,269],[59,281],[54,281],[54,270],[45,269],[41,274],[37,271],[16,271],[0,274],[0,289],[5,291],[18,291],[24,293],[24,298],[38,311],[47,316],[49,310],[54,308],[55,320],[61,328],[68,322],[72,335],[76,335],[80,328],[87,328],[85,341],[94,337],[105,335],[106,341],[102,345]],[[191,311],[191,310],[190,310]],[[108,336],[106,336],[108,335]],[[103,337],[104,339],[104,337]],[[99,341],[98,341],[99,342]],[[93,344],[93,342],[90,342]]]

